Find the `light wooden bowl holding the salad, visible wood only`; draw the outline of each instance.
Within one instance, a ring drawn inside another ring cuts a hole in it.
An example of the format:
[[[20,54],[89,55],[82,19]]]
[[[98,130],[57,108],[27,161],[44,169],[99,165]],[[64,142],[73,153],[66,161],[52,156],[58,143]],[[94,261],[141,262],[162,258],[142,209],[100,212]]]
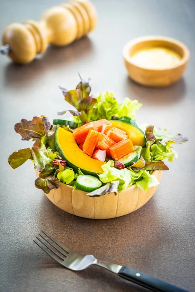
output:
[[[160,183],[162,171],[153,172]],[[89,197],[86,192],[60,183],[57,190],[45,194],[60,209],[79,217],[89,219],[110,219],[127,215],[143,206],[156,192],[158,185],[142,191],[136,184],[115,195],[105,194],[102,197]]]

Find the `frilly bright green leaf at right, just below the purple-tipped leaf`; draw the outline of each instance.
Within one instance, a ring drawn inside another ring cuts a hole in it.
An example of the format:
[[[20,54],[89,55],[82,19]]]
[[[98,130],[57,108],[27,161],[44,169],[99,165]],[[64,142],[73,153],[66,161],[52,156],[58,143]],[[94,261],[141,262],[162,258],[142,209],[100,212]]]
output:
[[[151,146],[151,160],[160,161],[168,159],[170,162],[173,162],[173,158],[177,158],[177,152],[171,146],[172,142],[166,142],[165,145],[162,145],[160,142]]]

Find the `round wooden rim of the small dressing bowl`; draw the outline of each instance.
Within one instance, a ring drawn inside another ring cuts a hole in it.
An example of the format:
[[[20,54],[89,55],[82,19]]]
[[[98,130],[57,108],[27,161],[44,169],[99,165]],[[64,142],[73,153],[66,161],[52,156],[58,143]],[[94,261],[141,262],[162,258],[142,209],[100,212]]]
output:
[[[176,46],[180,47],[183,50],[184,54],[183,54],[183,57],[181,58],[179,64],[172,66],[172,67],[165,67],[165,68],[150,68],[150,67],[139,66],[136,63],[134,63],[132,61],[132,58],[129,55],[129,49],[134,47],[138,43],[141,43],[144,41],[154,41],[154,40],[162,40],[164,42],[171,42],[171,43],[175,44]],[[178,68],[178,67],[186,64],[190,58],[190,50],[188,49],[188,47],[186,45],[184,45],[184,43],[182,43],[181,41],[179,41],[175,38],[163,37],[163,36],[144,36],[144,37],[133,38],[124,45],[123,50],[122,50],[122,54],[123,54],[125,61],[128,62],[129,64],[134,65],[135,67],[137,67],[139,69],[154,71],[154,72],[155,71],[162,72],[162,71],[168,71],[168,70]]]

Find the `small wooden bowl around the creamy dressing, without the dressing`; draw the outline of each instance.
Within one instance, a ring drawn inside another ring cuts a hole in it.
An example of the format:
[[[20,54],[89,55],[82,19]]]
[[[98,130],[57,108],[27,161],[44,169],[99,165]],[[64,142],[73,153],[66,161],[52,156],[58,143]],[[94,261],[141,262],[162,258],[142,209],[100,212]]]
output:
[[[149,69],[138,66],[131,58],[137,51],[148,47],[164,47],[181,56],[179,64],[164,69]],[[138,37],[123,48],[123,57],[129,76],[139,84],[150,87],[164,87],[176,83],[183,75],[190,57],[188,48],[170,37]]]

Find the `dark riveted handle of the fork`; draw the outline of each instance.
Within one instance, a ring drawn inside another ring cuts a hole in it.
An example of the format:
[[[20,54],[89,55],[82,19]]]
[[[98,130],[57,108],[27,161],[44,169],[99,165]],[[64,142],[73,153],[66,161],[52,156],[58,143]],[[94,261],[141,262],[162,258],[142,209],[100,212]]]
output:
[[[124,266],[120,269],[118,275],[155,292],[189,292],[163,280]]]

